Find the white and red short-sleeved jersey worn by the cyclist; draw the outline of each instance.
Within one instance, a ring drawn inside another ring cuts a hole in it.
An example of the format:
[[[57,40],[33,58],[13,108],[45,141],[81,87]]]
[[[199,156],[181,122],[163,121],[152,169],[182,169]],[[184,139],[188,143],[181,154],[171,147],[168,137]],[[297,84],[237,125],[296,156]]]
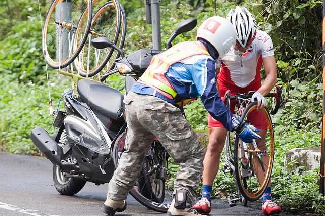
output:
[[[218,82],[221,81],[245,88],[252,81],[261,80],[259,72],[262,67],[262,58],[274,56],[271,37],[264,31],[256,30],[255,39],[246,51],[248,54],[243,57],[233,57],[243,53],[233,49],[219,57],[219,59],[222,59],[223,67],[220,68]],[[232,58],[229,59],[229,57]],[[227,64],[228,67],[224,67]],[[218,60],[218,65],[221,65],[221,60]]]

